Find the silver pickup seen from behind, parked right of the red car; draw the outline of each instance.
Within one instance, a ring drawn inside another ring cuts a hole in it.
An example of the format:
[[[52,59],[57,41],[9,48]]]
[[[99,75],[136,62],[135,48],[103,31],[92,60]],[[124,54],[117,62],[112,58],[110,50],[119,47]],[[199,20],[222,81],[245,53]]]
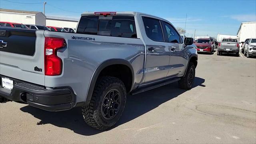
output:
[[[222,53],[232,53],[239,56],[239,43],[236,38],[223,38],[218,44],[217,55],[222,55]]]

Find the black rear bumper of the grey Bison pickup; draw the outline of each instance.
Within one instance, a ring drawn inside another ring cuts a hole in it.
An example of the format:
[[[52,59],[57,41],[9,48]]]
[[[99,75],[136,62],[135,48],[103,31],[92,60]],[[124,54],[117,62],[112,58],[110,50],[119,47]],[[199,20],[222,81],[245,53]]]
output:
[[[0,80],[2,80],[2,77],[9,78],[0,75]],[[3,88],[2,82],[0,82],[0,96],[8,100],[24,102],[30,106],[48,111],[69,110],[74,106],[75,94],[71,88],[46,89],[43,86],[13,78],[9,79],[14,82],[12,90]]]

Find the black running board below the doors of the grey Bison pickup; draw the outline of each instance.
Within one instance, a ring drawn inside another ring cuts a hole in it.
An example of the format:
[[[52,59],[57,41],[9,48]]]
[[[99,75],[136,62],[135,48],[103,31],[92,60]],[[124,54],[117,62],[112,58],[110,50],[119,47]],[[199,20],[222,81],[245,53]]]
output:
[[[172,82],[176,82],[180,80],[180,78],[174,78],[174,79],[170,79],[170,80],[165,80],[165,81],[162,81],[162,82],[158,82],[156,84],[152,84],[152,85],[149,85],[149,86],[144,86],[144,87],[141,87],[141,88],[138,88],[138,89],[135,89],[134,91],[132,91],[130,94],[132,95],[135,95],[135,94],[138,94],[138,93],[141,93],[141,92],[146,92],[148,90],[152,90],[154,88],[158,88],[160,86],[164,86],[166,84],[170,84]]]

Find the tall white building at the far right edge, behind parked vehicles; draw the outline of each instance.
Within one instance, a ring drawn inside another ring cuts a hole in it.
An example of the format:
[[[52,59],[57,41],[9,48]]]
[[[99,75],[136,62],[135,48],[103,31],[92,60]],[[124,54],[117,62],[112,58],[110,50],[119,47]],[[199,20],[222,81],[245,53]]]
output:
[[[239,42],[244,42],[246,38],[256,37],[256,22],[242,22],[237,32]]]

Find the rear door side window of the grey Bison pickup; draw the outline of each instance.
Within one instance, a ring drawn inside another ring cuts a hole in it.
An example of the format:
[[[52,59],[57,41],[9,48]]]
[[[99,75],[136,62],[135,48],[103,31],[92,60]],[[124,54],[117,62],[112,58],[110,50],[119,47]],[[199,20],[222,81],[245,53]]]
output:
[[[147,18],[147,17],[142,17],[142,18],[143,18],[143,23],[144,23],[148,38],[154,41],[163,42],[164,38],[163,38],[162,28],[160,25],[160,20]]]

